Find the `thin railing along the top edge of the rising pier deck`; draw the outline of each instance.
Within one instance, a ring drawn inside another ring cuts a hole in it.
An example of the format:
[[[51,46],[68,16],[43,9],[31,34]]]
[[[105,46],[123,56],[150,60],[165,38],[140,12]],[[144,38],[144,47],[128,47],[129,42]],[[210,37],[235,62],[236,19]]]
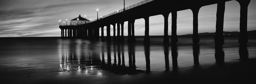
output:
[[[115,12],[112,12],[112,13],[110,13],[110,14],[108,14],[108,15],[104,15],[103,17],[98,18],[98,19],[102,19],[102,18],[106,18],[106,17],[109,17],[109,16],[114,15],[114,14],[118,14],[118,13],[123,12],[123,11],[125,11],[125,10],[129,10],[129,9],[132,9],[132,8],[135,8],[135,7],[138,7],[138,6],[141,6],[141,5],[143,5],[143,4],[150,3],[151,1],[154,1],[154,0],[144,0],[144,1],[141,1],[140,3],[133,4],[132,6],[129,6],[129,7],[126,7],[126,8],[124,8],[124,9],[121,9],[121,10],[118,10],[118,11],[115,11]],[[92,21],[90,21],[90,22],[88,22],[88,23],[91,23],[91,22],[94,22],[94,21],[97,21],[97,19],[94,19],[94,20],[92,20]]]

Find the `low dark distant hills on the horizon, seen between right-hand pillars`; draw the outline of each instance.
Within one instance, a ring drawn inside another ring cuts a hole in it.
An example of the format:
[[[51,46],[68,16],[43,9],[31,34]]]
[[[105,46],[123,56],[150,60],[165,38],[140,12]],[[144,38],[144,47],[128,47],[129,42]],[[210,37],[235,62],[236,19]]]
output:
[[[199,35],[215,35],[215,33],[198,33]],[[224,35],[239,35],[239,32],[223,32]],[[248,31],[248,35],[256,35],[256,30]],[[185,35],[193,35],[193,34],[185,34]]]

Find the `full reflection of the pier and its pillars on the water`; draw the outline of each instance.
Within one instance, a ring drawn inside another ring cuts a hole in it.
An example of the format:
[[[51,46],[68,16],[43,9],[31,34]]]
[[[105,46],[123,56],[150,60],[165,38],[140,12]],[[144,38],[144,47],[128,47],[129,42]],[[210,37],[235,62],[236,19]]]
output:
[[[156,44],[152,45],[155,46]],[[109,72],[114,74],[151,73],[152,60],[155,62],[164,61],[164,65],[157,65],[158,63],[153,64],[154,72],[162,69],[165,69],[164,71],[166,72],[171,70],[178,71],[179,46],[171,43],[157,44],[157,46],[157,48],[162,46],[162,49],[153,49],[153,51],[157,52],[156,54],[163,52],[164,59],[161,59],[162,57],[151,58],[151,44],[85,40],[59,41],[59,75],[70,74],[70,72],[73,71],[75,71],[76,74],[93,74],[99,76],[102,75],[102,72],[108,74]],[[200,66],[200,44],[193,44],[191,49],[193,53],[191,53],[191,57],[193,57],[191,60],[193,60],[193,63],[186,64]],[[170,50],[171,57],[169,57]],[[215,45],[215,53],[213,54],[216,60],[215,64],[223,65],[225,54],[222,45]],[[159,56],[161,55],[162,54],[159,54]],[[240,60],[246,60],[248,56],[246,45],[241,45],[239,47]],[[156,67],[164,66],[165,68],[155,69],[155,65],[157,65]]]

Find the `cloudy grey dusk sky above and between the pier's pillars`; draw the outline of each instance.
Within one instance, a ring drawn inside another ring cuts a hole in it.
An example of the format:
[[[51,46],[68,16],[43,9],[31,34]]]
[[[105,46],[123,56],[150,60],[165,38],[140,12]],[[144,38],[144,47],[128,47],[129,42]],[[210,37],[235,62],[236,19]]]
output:
[[[125,6],[143,0],[126,0]],[[81,14],[86,19],[96,19],[123,8],[123,0],[0,0],[0,37],[58,37],[61,35],[59,20],[74,19]],[[198,14],[198,32],[215,32],[217,4],[200,8]],[[191,10],[177,12],[177,34],[193,33],[193,14]],[[226,2],[224,31],[239,32],[240,5],[237,1]],[[171,13],[168,18],[168,34],[171,35]],[[124,25],[127,36],[128,22]],[[248,7],[248,28],[256,30],[256,0],[251,0]],[[100,29],[101,30],[101,29]],[[143,36],[144,19],[135,20],[135,36]],[[101,32],[101,31],[99,31]],[[104,28],[106,33],[106,27]],[[101,34],[101,33],[100,33]],[[164,17],[150,17],[150,36],[164,34]],[[106,34],[105,34],[106,35]],[[111,26],[111,36],[113,26]]]

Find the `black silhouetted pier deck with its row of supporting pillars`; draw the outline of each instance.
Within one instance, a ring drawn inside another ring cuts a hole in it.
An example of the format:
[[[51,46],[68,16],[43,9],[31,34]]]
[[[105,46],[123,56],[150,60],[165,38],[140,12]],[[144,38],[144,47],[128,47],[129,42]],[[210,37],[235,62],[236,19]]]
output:
[[[145,0],[119,11],[112,12],[101,18],[82,25],[62,25],[62,38],[99,40],[99,28],[101,28],[101,40],[104,41],[104,28],[106,28],[107,41],[124,41],[124,22],[128,21],[128,42],[135,41],[134,22],[135,19],[145,19],[144,42],[150,42],[149,17],[163,15],[164,17],[164,43],[169,43],[168,17],[172,13],[171,43],[177,43],[177,11],[190,9],[193,12],[193,43],[199,43],[198,35],[198,12],[201,7],[217,4],[216,33],[214,42],[216,45],[224,44],[223,24],[225,3],[231,0]],[[240,34],[239,43],[247,44],[247,8],[250,0],[236,0],[240,4]],[[110,27],[114,27],[114,36],[110,36]],[[115,25],[117,25],[117,36],[115,36]],[[106,27],[105,27],[106,26]],[[121,29],[120,29],[121,28]],[[121,31],[121,34],[120,34]]]

